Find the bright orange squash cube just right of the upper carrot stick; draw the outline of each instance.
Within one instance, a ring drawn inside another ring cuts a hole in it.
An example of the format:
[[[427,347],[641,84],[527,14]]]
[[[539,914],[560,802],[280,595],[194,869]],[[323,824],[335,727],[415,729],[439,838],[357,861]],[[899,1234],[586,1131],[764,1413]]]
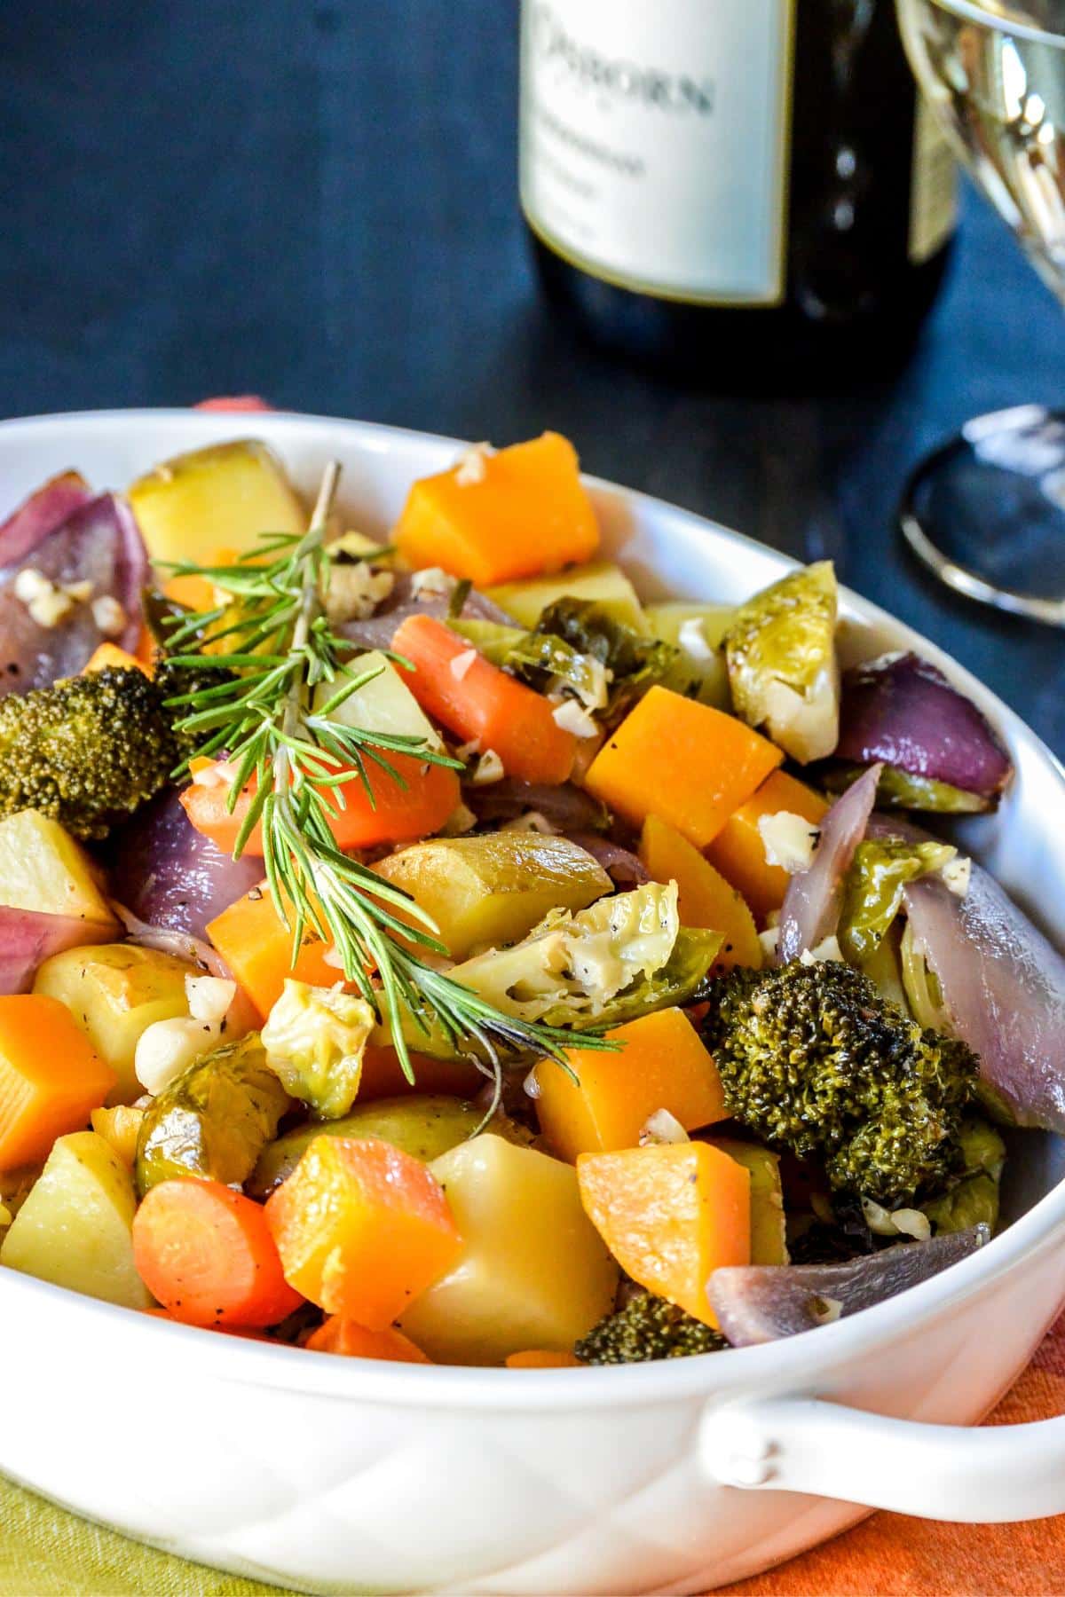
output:
[[[706,848],[782,759],[734,715],[653,687],[599,751],[584,787],[632,826],[658,814]]]

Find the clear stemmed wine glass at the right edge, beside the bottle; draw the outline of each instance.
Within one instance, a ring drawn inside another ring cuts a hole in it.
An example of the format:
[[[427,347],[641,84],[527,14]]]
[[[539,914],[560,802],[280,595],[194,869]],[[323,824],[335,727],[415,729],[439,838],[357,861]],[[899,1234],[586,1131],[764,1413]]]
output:
[[[1065,0],[897,0],[947,137],[1065,305]],[[899,521],[958,592],[1065,626],[1065,412],[982,415],[923,460]]]

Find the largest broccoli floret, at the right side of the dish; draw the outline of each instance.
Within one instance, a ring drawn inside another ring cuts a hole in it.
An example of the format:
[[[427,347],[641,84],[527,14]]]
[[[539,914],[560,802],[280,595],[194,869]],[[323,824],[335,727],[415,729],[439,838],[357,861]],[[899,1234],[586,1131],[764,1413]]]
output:
[[[886,1207],[961,1166],[979,1062],[921,1030],[838,960],[734,969],[712,982],[703,1038],[736,1119],[824,1161],[830,1187]]]

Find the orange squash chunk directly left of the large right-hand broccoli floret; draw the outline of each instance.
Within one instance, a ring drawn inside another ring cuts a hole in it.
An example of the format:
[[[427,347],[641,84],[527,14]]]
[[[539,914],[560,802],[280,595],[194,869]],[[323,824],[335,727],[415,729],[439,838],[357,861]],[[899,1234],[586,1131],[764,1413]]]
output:
[[[624,1048],[567,1049],[576,1081],[548,1059],[536,1065],[540,1129],[559,1158],[573,1163],[581,1153],[635,1148],[659,1108],[685,1131],[728,1118],[717,1067],[680,1009],[658,1009],[607,1036]]]

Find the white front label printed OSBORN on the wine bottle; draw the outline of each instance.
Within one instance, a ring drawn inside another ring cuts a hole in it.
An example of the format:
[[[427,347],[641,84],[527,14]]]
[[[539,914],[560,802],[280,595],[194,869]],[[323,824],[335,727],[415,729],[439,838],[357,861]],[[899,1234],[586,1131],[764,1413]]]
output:
[[[521,190],[642,294],[784,297],[795,0],[524,0]]]

